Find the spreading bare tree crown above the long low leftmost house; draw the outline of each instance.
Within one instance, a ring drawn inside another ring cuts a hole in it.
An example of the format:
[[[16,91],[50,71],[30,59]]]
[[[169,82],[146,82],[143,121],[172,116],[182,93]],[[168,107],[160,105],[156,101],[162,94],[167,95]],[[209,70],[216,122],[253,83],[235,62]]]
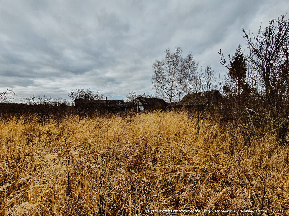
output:
[[[96,92],[94,92],[91,89],[77,86],[76,89],[71,89],[67,96],[71,98],[73,103],[75,103],[75,99],[101,100],[104,99],[104,96],[100,91],[100,89],[97,89]]]

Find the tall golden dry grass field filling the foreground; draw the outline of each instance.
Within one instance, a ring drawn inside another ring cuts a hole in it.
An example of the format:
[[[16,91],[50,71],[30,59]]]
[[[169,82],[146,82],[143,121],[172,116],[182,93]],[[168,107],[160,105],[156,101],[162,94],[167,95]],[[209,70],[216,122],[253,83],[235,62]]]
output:
[[[1,119],[0,215],[288,215],[288,157],[184,112]]]

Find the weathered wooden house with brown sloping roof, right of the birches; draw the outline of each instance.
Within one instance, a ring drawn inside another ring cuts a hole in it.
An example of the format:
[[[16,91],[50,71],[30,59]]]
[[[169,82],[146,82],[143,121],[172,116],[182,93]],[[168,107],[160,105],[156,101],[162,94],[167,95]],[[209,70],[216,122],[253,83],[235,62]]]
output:
[[[187,94],[179,103],[177,107],[194,108],[197,110],[204,110],[206,107],[217,108],[221,106],[222,95],[218,90],[208,92],[198,92]]]

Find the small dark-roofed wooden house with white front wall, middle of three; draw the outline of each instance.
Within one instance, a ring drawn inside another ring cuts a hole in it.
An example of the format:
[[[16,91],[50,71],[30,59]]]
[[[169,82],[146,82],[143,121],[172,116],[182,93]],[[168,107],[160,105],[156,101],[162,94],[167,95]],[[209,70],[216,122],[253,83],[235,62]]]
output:
[[[137,112],[143,110],[152,110],[152,109],[166,109],[167,103],[162,98],[136,98],[134,102],[134,107]]]

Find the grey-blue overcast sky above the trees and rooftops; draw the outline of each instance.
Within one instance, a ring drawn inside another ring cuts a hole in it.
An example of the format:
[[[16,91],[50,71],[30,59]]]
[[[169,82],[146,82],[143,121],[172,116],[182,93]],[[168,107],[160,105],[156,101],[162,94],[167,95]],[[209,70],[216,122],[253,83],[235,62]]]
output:
[[[242,26],[257,33],[288,11],[288,0],[2,0],[0,91],[14,90],[14,102],[33,94],[69,99],[81,86],[126,99],[152,92],[153,61],[176,46],[223,79],[218,50],[234,54],[240,43],[246,52]]]

